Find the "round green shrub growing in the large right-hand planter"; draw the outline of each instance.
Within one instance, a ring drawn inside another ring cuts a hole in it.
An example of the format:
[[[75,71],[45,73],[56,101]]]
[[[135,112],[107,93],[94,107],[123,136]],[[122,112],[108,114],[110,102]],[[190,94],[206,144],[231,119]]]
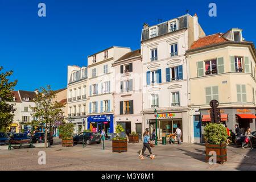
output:
[[[205,141],[212,144],[225,143],[228,139],[226,128],[218,123],[208,123],[204,128]]]

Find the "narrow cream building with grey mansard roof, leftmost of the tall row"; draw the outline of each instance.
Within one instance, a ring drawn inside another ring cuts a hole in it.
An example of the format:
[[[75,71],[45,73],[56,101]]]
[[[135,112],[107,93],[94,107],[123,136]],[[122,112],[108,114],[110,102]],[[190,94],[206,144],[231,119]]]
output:
[[[68,66],[67,121],[74,124],[74,133],[86,129],[87,67]]]

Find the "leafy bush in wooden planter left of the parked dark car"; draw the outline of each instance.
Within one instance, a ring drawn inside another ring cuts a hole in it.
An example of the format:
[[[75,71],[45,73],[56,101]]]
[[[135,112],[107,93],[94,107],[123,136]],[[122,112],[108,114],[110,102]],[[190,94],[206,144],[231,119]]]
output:
[[[63,147],[72,147],[73,146],[73,123],[64,123],[64,125],[59,126],[60,135],[62,138]]]

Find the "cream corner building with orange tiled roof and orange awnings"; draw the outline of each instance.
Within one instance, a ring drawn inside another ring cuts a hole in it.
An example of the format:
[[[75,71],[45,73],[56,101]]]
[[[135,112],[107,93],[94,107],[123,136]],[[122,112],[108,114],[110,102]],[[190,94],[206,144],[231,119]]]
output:
[[[242,30],[232,28],[225,34],[200,38],[187,51],[187,60],[189,105],[196,111],[191,118],[192,142],[203,141],[213,99],[220,104],[222,123],[234,133],[235,124],[243,131],[247,127],[255,131],[256,52],[254,44],[243,39]]]

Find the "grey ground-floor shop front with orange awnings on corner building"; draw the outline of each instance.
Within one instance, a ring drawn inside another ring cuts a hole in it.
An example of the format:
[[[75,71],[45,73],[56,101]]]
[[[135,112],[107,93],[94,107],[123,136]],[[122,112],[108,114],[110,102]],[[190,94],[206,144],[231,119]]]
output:
[[[227,125],[232,132],[235,133],[234,125],[238,125],[245,133],[247,127],[251,128],[251,131],[256,130],[255,124],[255,109],[254,108],[220,108],[221,123]],[[210,110],[201,110],[201,140],[204,142],[204,126],[210,122]]]

